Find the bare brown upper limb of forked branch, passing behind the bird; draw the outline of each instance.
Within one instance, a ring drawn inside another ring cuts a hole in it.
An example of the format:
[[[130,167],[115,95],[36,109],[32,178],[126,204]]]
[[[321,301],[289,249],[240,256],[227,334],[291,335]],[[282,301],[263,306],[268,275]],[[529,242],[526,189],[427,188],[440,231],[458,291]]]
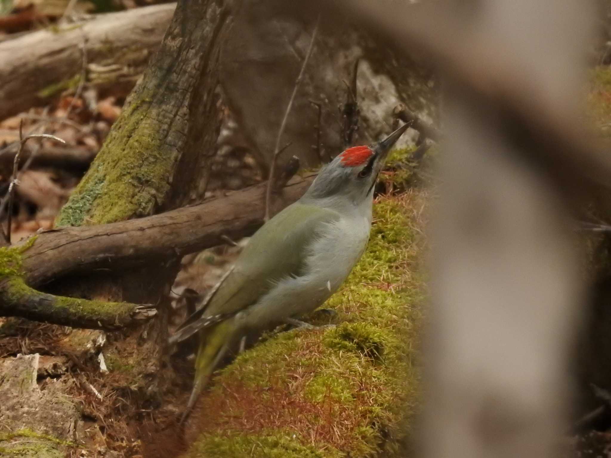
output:
[[[312,181],[291,180],[278,206],[295,202]],[[223,244],[224,236],[251,235],[263,224],[265,192],[262,183],[155,216],[44,231],[22,255],[24,278],[36,287],[72,272],[175,258]]]

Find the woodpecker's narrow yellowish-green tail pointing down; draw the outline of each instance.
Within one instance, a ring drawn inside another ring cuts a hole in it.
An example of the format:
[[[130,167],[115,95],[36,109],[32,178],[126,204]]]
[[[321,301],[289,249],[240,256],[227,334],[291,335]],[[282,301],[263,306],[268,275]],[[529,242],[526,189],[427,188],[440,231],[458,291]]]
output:
[[[231,320],[226,320],[218,325],[214,326],[205,335],[200,338],[200,346],[197,351],[197,358],[195,363],[195,379],[193,382],[193,389],[191,390],[191,396],[187,403],[185,412],[180,419],[180,423],[184,423],[188,418],[189,413],[193,409],[199,395],[202,394],[203,389],[208,385],[210,376],[212,375],[214,368],[218,366],[222,358],[229,349],[229,343],[231,341],[233,331],[233,323]]]

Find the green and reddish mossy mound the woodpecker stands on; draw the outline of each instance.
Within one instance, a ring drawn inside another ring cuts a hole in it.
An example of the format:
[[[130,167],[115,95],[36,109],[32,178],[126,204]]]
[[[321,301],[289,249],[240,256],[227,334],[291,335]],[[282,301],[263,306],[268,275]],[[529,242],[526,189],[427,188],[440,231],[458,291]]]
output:
[[[187,456],[400,455],[419,398],[423,194],[378,198],[364,256],[323,306],[336,327],[278,333],[219,373]]]

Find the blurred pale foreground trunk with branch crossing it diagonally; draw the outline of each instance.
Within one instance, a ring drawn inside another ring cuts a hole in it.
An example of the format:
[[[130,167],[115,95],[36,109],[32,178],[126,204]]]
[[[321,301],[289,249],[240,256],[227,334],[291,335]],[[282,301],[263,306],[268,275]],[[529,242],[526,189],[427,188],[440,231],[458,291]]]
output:
[[[570,204],[611,188],[609,145],[582,115],[592,2],[304,7],[373,27],[445,80],[423,456],[558,456],[585,300]]]

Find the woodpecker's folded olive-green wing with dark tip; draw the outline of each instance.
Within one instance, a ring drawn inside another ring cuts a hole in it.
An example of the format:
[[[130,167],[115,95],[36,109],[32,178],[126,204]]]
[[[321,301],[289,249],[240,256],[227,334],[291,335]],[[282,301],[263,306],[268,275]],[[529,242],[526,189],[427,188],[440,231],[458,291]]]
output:
[[[324,224],[339,217],[331,209],[300,202],[282,210],[252,236],[208,307],[192,314],[177,332],[188,325],[192,328],[188,334],[192,335],[199,329],[200,319],[238,313],[257,302],[274,282],[302,275],[304,250],[318,237]],[[174,336],[172,339],[177,341]]]

